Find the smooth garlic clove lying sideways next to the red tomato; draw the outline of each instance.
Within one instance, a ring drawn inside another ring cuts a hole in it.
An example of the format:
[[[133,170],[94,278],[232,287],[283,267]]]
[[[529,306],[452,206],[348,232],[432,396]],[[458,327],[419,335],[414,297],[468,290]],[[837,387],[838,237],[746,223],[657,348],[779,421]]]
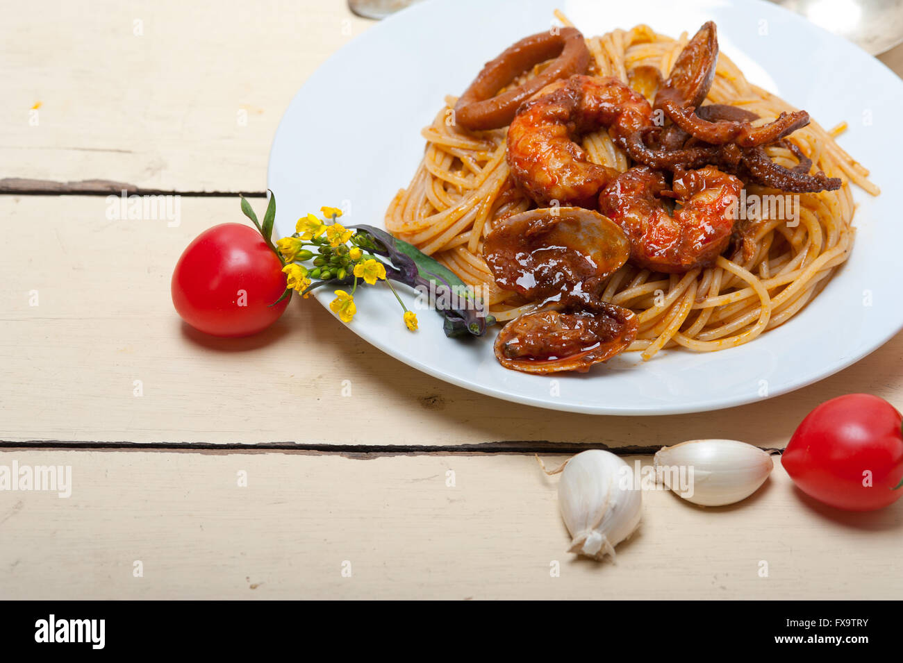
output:
[[[735,439],[694,439],[662,447],[654,462],[668,488],[703,506],[745,500],[774,467],[767,451]]]

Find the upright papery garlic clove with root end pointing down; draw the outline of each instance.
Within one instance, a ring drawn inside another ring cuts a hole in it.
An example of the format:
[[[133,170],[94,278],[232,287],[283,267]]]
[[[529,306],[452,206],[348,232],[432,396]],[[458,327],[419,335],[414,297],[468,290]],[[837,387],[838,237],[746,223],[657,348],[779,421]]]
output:
[[[642,492],[633,470],[609,451],[573,456],[558,483],[558,504],[573,540],[568,552],[601,560],[633,534],[642,516]]]

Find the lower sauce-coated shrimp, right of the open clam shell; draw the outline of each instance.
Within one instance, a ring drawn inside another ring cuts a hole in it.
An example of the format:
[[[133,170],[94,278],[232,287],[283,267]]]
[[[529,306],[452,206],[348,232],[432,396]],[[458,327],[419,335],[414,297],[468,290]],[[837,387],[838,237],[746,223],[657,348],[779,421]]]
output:
[[[654,272],[682,273],[712,265],[731,240],[743,183],[712,166],[664,175],[631,168],[606,187],[599,211],[630,240],[630,262]],[[672,216],[662,198],[681,204]]]

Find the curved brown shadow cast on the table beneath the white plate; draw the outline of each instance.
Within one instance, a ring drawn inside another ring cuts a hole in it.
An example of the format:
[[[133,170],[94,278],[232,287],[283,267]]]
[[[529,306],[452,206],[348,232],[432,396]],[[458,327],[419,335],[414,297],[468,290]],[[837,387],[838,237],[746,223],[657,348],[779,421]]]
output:
[[[666,416],[598,416],[558,412],[500,401],[442,382],[402,364],[358,338],[324,308],[309,306],[306,334],[311,345],[336,345],[353,356],[361,373],[376,384],[387,401],[410,401],[411,417],[433,419],[433,428],[447,430],[439,444],[459,445],[479,440],[505,447],[537,447],[537,443],[570,447],[631,448],[673,445],[687,439],[724,437],[764,448],[783,448],[796,426],[819,403],[857,391],[888,393],[898,389],[896,370],[903,355],[903,335],[872,355],[833,376],[803,389],[727,410]],[[276,332],[274,332],[276,333]]]

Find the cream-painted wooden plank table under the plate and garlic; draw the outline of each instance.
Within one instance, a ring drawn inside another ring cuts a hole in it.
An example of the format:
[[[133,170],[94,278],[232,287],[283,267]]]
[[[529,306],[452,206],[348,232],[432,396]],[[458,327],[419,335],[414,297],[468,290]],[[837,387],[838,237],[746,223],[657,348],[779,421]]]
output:
[[[647,493],[638,536],[598,565],[564,552],[533,452],[784,447],[841,393],[903,405],[903,336],[774,400],[596,418],[439,382],[298,299],[252,338],[182,325],[182,249],[263,194],[289,100],[370,25],[341,0],[5,12],[0,465],[69,465],[72,489],[0,492],[0,598],[898,597],[900,504],[830,511],[776,460],[736,507]],[[885,60],[903,71],[900,49]],[[179,225],[108,218],[120,189],[181,195]]]

